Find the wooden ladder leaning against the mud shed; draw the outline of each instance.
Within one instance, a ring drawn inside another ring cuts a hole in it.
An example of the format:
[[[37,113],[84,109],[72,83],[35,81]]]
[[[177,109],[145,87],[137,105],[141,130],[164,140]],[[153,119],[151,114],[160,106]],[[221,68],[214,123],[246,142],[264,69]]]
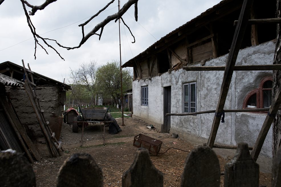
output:
[[[22,60],[22,62],[23,62],[23,69],[24,69],[24,73],[25,73],[25,80],[24,80],[25,84],[23,86],[28,95],[30,103],[34,109],[34,112],[36,113],[36,117],[39,122],[41,131],[43,133],[44,139],[46,141],[50,156],[57,157],[57,153],[58,153],[58,155],[61,156],[60,149],[62,151],[64,151],[64,149],[61,145],[61,142],[59,143],[58,140],[56,139],[55,133],[53,133],[52,130],[50,129],[49,121],[47,121],[46,118],[44,117],[44,110],[41,108],[40,101],[39,101],[40,98],[38,97],[38,95],[36,93],[36,88],[35,88],[36,84],[34,84],[34,80],[33,80],[34,72],[31,71],[29,64],[28,64],[29,69],[26,69],[23,60]],[[30,73],[32,82],[30,82],[30,80],[28,79],[27,72]],[[32,87],[31,87],[31,85],[32,85]]]

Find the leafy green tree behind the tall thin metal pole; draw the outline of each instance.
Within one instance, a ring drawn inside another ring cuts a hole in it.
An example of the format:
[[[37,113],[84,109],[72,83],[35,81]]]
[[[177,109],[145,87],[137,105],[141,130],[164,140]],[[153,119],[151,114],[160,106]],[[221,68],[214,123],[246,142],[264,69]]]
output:
[[[127,69],[122,70],[123,91],[132,88],[133,77]],[[120,66],[117,60],[107,62],[100,66],[96,72],[97,90],[103,93],[103,96],[111,96],[114,99],[114,105],[118,104],[121,98],[121,76]]]

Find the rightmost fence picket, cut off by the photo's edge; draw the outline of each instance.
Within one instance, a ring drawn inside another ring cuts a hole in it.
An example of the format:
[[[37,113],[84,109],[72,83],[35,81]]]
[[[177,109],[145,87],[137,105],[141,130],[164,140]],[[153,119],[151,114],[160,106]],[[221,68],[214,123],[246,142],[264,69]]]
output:
[[[281,147],[279,147],[277,153],[273,158],[271,187],[277,187],[280,186],[280,184],[281,184]]]

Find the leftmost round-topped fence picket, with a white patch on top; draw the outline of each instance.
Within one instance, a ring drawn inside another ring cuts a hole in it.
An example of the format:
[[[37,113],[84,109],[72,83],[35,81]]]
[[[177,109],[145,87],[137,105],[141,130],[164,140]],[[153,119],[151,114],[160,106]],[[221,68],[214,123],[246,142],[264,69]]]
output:
[[[0,186],[36,186],[35,174],[25,156],[11,149],[0,152]]]

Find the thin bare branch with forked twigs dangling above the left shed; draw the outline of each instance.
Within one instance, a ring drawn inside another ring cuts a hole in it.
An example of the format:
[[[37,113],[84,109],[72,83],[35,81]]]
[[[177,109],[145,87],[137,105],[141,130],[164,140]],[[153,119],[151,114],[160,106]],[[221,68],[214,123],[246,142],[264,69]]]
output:
[[[42,38],[41,36],[39,36],[39,34],[36,33],[35,31],[35,27],[34,25],[32,24],[31,20],[30,20],[30,17],[27,13],[27,10],[25,8],[25,3],[24,3],[24,0],[21,0],[22,4],[23,4],[23,10],[25,11],[25,16],[27,18],[27,24],[28,24],[28,27],[30,28],[30,31],[31,33],[33,34],[33,38],[34,38],[34,42],[35,42],[35,53],[34,53],[34,58],[36,59],[36,44],[40,45],[42,49],[45,50],[45,52],[48,54],[47,50],[38,42],[37,38],[40,38],[48,47],[52,48],[54,51],[56,51],[56,53],[60,56],[60,54],[58,53],[58,51],[53,48],[50,44],[48,44],[46,42],[46,40],[52,40],[52,39],[49,39],[49,38]],[[37,37],[37,38],[36,38]],[[53,41],[56,41],[56,40],[53,40]],[[60,56],[60,58],[62,58],[62,56]],[[64,60],[64,58],[62,58],[62,60]]]

